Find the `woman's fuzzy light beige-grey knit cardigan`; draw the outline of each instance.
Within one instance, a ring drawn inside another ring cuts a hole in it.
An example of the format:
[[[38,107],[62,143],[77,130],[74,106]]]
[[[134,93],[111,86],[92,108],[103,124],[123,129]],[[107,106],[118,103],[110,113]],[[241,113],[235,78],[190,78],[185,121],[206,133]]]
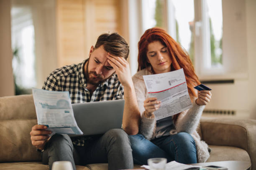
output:
[[[141,112],[141,125],[139,133],[144,135],[148,140],[154,138],[155,129],[156,129],[156,119],[150,119],[144,116],[145,108],[143,106],[144,100],[148,98],[148,92],[143,80],[143,75],[151,75],[151,67],[147,67],[135,75],[133,75],[133,84],[135,87],[136,97],[138,100],[138,106]],[[204,163],[210,157],[210,149],[208,150],[208,145],[205,141],[200,139],[199,134],[196,131],[197,126],[199,125],[200,117],[205,106],[199,106],[194,102],[192,107],[188,110],[183,111],[176,122],[175,129],[170,131],[170,135],[186,132],[192,135],[195,140],[197,148],[197,163]]]

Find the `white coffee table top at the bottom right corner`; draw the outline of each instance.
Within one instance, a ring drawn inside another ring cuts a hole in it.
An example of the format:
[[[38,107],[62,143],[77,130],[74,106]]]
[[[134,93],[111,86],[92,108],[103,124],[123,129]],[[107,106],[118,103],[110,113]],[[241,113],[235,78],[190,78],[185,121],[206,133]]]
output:
[[[219,162],[210,162],[210,163],[194,163],[189,165],[200,165],[200,166],[222,166],[227,167],[228,170],[250,170],[251,162],[241,161],[241,160],[229,160],[229,161],[219,161]]]

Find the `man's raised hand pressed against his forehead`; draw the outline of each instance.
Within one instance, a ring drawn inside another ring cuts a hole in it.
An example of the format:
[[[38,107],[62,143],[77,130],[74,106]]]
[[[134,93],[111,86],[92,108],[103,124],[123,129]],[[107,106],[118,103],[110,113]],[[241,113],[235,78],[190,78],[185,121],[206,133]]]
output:
[[[108,63],[114,68],[116,74],[118,75],[118,80],[122,83],[123,86],[131,87],[133,80],[131,79],[130,66],[128,61],[123,57],[117,57],[111,55],[108,52]]]

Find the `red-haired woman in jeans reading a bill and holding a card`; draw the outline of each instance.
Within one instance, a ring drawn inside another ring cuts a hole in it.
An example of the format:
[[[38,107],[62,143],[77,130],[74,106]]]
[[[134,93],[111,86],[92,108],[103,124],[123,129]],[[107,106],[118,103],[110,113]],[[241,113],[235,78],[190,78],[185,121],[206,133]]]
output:
[[[139,134],[131,135],[133,160],[147,164],[148,158],[167,158],[168,162],[205,162],[208,146],[196,132],[202,111],[210,102],[211,92],[194,89],[199,85],[189,55],[161,28],[146,30],[138,42],[138,72],[133,76],[136,97],[141,112]],[[192,107],[177,115],[155,120],[154,111],[161,101],[148,97],[143,75],[159,74],[183,68]]]

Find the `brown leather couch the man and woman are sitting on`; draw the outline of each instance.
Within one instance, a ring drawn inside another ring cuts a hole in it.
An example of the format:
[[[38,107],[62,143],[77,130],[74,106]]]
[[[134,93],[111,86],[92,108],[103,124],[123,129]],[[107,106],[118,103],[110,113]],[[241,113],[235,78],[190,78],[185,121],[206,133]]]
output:
[[[48,170],[30,140],[37,123],[32,95],[0,97],[0,170]],[[212,152],[207,162],[251,161],[256,168],[256,120],[201,119],[198,129]],[[107,164],[91,164],[107,170]],[[138,165],[136,165],[138,167]],[[89,170],[77,166],[77,170]]]

